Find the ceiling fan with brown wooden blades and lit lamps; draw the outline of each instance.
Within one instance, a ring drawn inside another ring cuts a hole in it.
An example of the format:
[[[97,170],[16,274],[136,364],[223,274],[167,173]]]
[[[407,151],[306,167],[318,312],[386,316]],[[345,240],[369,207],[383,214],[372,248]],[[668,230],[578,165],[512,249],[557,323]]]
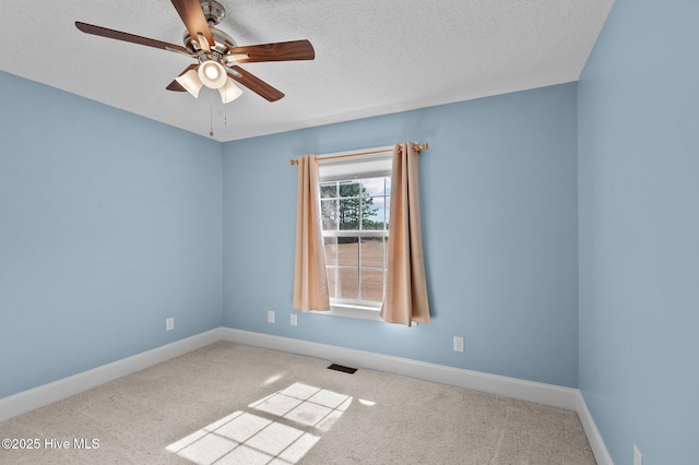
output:
[[[282,92],[244,70],[238,65],[239,63],[316,58],[313,46],[308,40],[238,47],[228,34],[214,27],[226,15],[226,10],[221,3],[214,0],[171,0],[171,2],[187,27],[183,47],[80,21],[75,22],[75,27],[86,34],[145,45],[196,59],[197,63],[187,67],[166,88],[175,92],[187,91],[198,97],[199,91],[205,85],[209,88],[218,90],[224,104],[233,102],[242,93],[233,81],[242,84],[269,102],[284,97]]]

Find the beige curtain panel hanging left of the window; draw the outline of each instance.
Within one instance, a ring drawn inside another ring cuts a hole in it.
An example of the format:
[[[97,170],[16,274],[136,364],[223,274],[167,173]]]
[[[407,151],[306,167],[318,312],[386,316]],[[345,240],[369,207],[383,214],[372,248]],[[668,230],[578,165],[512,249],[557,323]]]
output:
[[[330,310],[325,254],[321,228],[318,162],[315,155],[298,159],[296,255],[292,308]]]

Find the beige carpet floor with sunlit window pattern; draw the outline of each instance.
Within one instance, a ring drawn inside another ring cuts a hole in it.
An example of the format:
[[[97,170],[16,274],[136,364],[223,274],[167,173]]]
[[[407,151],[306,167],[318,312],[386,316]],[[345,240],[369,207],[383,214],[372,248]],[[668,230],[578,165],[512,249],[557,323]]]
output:
[[[595,463],[574,412],[328,365],[216,343],[0,422],[38,446],[0,463]]]

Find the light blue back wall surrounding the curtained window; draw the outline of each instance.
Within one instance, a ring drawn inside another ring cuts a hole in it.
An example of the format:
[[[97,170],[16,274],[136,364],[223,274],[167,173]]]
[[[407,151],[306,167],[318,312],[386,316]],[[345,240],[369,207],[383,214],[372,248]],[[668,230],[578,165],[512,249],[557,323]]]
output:
[[[300,314],[289,325],[289,158],[428,142],[420,155],[433,322]],[[225,326],[565,386],[578,384],[577,86],[566,84],[224,147]],[[276,323],[266,323],[266,311]],[[465,351],[452,350],[464,336]]]

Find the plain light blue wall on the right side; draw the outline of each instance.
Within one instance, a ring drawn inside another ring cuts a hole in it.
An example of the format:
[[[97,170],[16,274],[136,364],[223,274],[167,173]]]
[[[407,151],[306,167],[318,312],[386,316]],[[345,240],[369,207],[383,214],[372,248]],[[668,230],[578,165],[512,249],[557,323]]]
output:
[[[698,19],[617,0],[579,83],[580,388],[617,464],[698,463]]]

